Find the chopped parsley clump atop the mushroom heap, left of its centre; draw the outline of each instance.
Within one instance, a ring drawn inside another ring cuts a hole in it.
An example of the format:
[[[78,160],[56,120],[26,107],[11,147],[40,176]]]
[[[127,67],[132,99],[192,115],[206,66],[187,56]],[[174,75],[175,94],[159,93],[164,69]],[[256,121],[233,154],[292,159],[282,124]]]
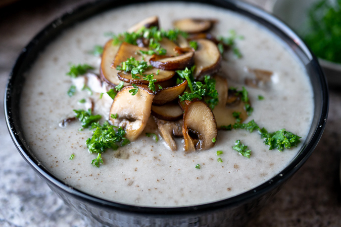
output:
[[[127,61],[122,62],[121,65],[116,67],[116,70],[124,71],[126,73],[130,72],[134,79],[139,79],[140,76],[136,76],[137,74],[143,75],[143,73],[147,69],[151,69],[152,66],[147,65],[145,61],[137,61],[134,57],[130,57]]]

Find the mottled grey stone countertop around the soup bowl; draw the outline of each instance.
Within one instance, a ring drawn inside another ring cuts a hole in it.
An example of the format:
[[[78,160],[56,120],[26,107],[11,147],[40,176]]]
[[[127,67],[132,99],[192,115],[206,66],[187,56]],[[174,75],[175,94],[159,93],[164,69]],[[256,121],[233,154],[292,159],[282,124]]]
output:
[[[19,1],[0,9],[1,107],[9,72],[21,49],[56,16],[86,1]],[[266,9],[271,7],[269,0],[249,1]],[[341,226],[340,117],[341,91],[331,88],[327,126],[314,153],[247,227]],[[0,145],[1,227],[89,226],[85,218],[68,208],[49,189],[16,151],[3,109]]]

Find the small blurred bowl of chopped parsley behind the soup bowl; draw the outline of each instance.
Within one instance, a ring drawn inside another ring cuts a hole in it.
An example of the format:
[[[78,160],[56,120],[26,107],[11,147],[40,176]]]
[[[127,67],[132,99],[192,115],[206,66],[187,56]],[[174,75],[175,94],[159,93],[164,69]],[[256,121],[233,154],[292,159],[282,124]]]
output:
[[[277,0],[273,14],[304,40],[330,85],[341,85],[341,0]]]

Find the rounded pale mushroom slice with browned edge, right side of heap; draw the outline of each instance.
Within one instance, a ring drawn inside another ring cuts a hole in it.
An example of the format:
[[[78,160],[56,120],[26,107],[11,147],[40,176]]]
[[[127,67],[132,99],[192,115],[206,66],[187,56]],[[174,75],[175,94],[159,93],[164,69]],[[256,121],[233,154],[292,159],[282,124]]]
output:
[[[208,39],[196,39],[195,41],[198,44],[198,49],[194,55],[194,77],[198,79],[218,72],[221,66],[221,55],[217,45]]]

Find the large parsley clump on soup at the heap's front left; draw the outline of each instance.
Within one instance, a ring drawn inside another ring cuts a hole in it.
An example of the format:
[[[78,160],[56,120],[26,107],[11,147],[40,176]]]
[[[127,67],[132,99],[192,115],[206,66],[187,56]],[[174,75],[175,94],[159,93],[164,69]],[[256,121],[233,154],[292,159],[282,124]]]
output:
[[[91,153],[97,153],[97,158],[92,160],[93,166],[99,167],[99,164],[103,163],[101,153],[107,149],[117,150],[119,147],[123,147],[130,143],[128,139],[124,137],[125,131],[121,127],[110,125],[107,121],[100,125],[93,123],[92,128],[94,134],[92,138],[87,139],[86,145]]]

